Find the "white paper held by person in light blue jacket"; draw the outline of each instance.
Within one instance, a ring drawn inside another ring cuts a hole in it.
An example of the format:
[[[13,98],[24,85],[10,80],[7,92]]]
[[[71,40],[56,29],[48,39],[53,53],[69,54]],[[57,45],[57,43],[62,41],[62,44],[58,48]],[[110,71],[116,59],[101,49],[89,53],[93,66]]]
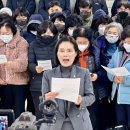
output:
[[[111,73],[115,76],[127,76],[130,75],[130,72],[125,67],[117,67],[117,68],[108,68],[106,66],[101,65],[108,73]]]

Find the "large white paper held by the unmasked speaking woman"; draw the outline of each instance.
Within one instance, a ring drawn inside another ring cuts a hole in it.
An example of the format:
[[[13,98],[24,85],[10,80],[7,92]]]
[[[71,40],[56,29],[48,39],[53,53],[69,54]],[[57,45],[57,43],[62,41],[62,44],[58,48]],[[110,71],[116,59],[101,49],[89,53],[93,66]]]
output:
[[[79,87],[80,78],[52,78],[51,91],[59,93],[56,98],[76,102]]]

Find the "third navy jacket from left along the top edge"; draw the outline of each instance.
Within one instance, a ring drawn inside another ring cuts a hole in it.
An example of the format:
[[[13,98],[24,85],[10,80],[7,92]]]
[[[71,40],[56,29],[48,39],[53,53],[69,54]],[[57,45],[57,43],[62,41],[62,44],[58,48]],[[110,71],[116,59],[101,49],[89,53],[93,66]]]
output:
[[[82,2],[82,0],[76,0],[76,3],[75,3],[74,12],[77,14],[80,13],[80,10],[79,10],[79,3],[80,2]],[[98,9],[102,9],[108,15],[108,8],[107,8],[106,0],[89,0],[89,2],[91,2],[93,14]]]

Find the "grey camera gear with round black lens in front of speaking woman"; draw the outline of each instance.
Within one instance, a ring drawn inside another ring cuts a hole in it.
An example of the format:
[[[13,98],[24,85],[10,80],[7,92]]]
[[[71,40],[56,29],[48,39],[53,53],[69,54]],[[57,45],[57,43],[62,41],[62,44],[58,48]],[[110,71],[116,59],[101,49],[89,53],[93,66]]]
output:
[[[8,130],[37,130],[42,123],[55,123],[57,109],[58,105],[55,100],[43,101],[42,99],[39,104],[39,110],[43,118],[36,121],[36,116],[32,115],[31,112],[23,112]]]

